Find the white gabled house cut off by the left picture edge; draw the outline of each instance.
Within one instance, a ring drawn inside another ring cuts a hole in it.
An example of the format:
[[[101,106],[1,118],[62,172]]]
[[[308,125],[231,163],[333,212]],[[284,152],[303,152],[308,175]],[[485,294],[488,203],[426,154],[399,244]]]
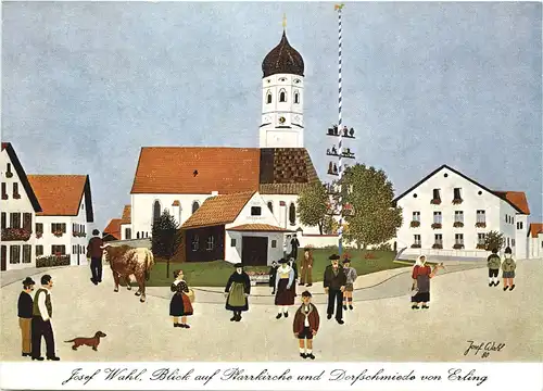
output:
[[[36,266],[33,226],[41,212],[23,165],[10,142],[1,143],[1,270]]]

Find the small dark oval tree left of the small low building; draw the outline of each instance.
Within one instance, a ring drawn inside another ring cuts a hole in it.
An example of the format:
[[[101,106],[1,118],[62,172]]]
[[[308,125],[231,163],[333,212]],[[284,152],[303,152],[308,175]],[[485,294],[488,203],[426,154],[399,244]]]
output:
[[[166,277],[168,277],[169,261],[177,254],[181,244],[181,230],[167,211],[164,211],[153,224],[151,244],[153,255],[166,260]]]

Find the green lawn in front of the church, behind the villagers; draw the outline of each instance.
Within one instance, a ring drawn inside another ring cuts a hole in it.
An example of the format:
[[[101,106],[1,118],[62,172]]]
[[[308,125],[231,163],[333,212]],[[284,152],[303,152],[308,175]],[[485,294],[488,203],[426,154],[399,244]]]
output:
[[[338,253],[338,249],[315,249],[313,250],[313,280],[321,281],[325,267],[330,264],[328,256],[332,253]],[[367,251],[349,250],[351,255],[351,266],[356,268],[358,276],[375,272],[405,267],[404,264],[394,262],[394,253],[391,251],[375,251],[375,260],[365,260],[364,255]],[[298,267],[300,268],[303,257],[303,250],[299,251]],[[151,272],[151,278],[147,282],[148,287],[169,287],[174,280],[173,272],[182,269],[185,280],[192,287],[224,287],[228,281],[228,277],[233,272],[230,263],[225,261],[213,262],[172,262],[169,264],[169,276],[166,276],[166,262],[156,262]],[[245,272],[267,272],[269,266],[248,266]]]

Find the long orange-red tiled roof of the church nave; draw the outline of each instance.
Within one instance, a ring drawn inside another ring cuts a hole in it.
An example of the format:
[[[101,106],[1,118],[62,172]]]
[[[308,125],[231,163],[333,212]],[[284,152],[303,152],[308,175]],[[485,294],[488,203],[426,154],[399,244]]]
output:
[[[258,176],[258,148],[144,147],[131,193],[256,191]]]

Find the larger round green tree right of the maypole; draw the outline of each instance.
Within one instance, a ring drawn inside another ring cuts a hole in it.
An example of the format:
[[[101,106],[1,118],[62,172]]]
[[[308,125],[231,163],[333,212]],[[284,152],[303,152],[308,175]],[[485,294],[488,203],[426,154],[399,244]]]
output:
[[[356,164],[345,169],[340,185],[343,205],[350,204],[354,212],[344,216],[346,241],[366,249],[395,237],[402,225],[402,209],[392,205],[394,189],[382,169]]]

